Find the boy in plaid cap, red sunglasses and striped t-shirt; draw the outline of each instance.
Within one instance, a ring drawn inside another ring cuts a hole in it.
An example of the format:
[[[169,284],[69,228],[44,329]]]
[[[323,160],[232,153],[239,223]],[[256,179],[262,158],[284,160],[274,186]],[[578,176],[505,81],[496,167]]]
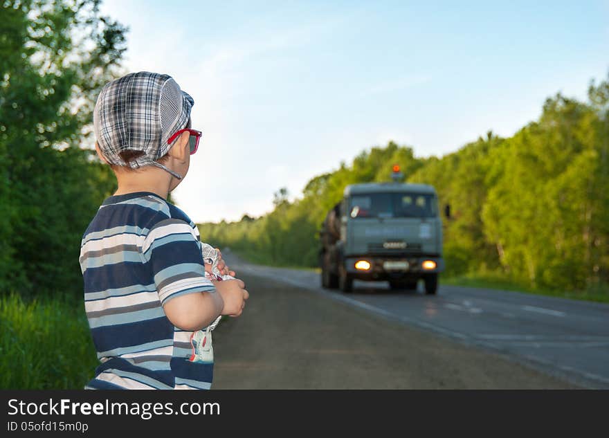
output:
[[[242,280],[208,280],[197,226],[166,201],[199,145],[193,104],[172,77],[144,71],[109,82],[98,96],[96,151],[118,190],[80,249],[101,362],[85,389],[209,389],[211,342],[201,342],[201,331],[221,315],[241,315],[249,296]],[[235,275],[221,260],[217,268]]]

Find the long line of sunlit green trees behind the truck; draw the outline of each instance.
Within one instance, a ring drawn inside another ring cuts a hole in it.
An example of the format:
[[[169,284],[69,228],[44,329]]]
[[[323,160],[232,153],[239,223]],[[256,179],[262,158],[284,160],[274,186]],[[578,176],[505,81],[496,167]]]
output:
[[[318,266],[317,230],[345,185],[390,181],[434,185],[444,219],[448,275],[491,273],[532,289],[606,290],[609,284],[609,80],[588,101],[560,93],[510,138],[492,132],[442,158],[417,158],[389,143],[349,166],[314,177],[302,197],[275,193],[267,215],[201,223],[201,237],[276,266]]]

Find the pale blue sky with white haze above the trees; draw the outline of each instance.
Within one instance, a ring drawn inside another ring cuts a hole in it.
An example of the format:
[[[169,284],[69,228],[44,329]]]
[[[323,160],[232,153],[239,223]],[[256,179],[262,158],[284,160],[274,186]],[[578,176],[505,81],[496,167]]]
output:
[[[609,72],[609,1],[104,0],[126,71],[174,77],[203,131],[172,198],[196,223],[273,209],[389,140],[511,136]],[[391,165],[392,163],[388,163]]]

